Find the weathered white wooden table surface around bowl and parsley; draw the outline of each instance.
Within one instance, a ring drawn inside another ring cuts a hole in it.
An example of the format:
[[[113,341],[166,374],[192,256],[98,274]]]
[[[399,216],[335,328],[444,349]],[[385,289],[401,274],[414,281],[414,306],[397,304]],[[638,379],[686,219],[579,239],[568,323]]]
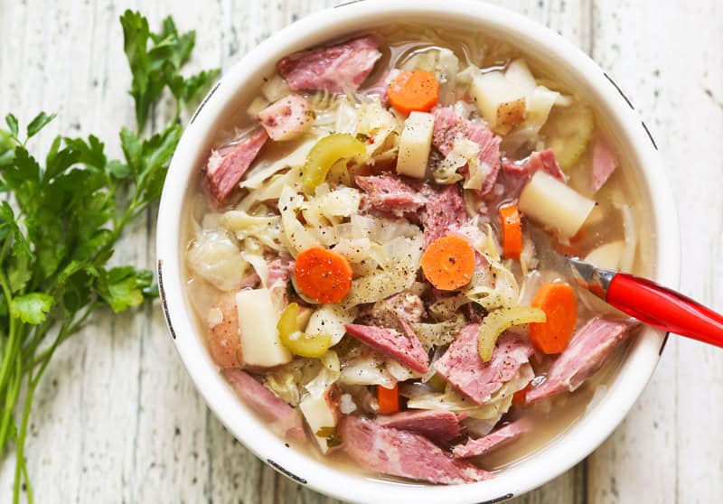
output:
[[[723,311],[723,3],[498,0],[587,51],[657,140],[681,216],[681,290]],[[195,28],[193,66],[228,69],[324,0],[0,0],[0,113],[58,118],[41,137],[94,133],[118,154],[133,124],[117,21],[142,8]],[[482,7],[481,7],[482,8]],[[44,152],[44,151],[43,151]],[[117,257],[154,265],[155,212]],[[331,502],[270,470],[221,426],[178,359],[157,305],[93,320],[36,394],[28,468],[37,502]],[[624,423],[573,470],[514,502],[723,500],[723,352],[669,342]],[[14,462],[0,464],[0,501]]]

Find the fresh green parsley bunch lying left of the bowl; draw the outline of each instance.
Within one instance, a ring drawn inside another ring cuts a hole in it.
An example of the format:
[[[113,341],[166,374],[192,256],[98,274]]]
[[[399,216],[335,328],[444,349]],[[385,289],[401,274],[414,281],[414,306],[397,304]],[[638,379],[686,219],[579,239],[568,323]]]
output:
[[[108,262],[127,224],[160,197],[182,133],[181,110],[219,73],[183,77],[195,33],[179,33],[171,17],[159,33],[136,12],[120,22],[136,108],[136,128],[120,130],[122,159],[108,159],[94,135],[58,135],[44,159],[31,154],[30,141],[54,114],[41,112],[24,129],[7,114],[0,127],[0,454],[16,449],[15,503],[21,481],[33,501],[25,438],[55,350],[98,310],[124,312],[156,295],[150,271]],[[165,89],[175,100],[174,119],[146,137]]]

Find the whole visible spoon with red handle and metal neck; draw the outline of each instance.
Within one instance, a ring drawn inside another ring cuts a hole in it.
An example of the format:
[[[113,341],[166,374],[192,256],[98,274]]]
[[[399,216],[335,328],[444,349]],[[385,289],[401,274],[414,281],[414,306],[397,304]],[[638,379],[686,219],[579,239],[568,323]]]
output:
[[[577,285],[640,322],[723,348],[723,315],[651,280],[568,257]]]

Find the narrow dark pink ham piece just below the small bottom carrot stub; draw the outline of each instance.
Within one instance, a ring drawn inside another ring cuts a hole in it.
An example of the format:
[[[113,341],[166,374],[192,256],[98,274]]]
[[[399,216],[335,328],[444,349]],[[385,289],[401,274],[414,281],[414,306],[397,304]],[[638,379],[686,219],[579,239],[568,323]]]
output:
[[[462,435],[459,418],[446,409],[410,409],[394,415],[380,415],[377,424],[422,434],[438,443],[448,443]]]

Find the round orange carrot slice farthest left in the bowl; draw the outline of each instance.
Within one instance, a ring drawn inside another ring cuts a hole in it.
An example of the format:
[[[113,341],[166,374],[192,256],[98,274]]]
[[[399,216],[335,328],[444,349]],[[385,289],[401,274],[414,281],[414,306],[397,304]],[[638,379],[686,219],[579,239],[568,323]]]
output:
[[[349,259],[324,247],[311,247],[296,257],[298,288],[320,303],[338,303],[352,288]]]

